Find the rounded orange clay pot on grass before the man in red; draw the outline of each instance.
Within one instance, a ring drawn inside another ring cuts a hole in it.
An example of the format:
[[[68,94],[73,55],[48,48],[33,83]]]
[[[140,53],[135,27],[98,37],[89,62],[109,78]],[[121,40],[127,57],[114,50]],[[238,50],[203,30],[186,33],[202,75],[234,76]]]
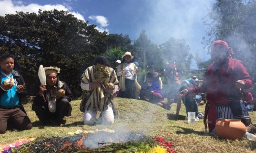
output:
[[[246,127],[241,120],[220,118],[216,123],[216,132],[221,138],[241,140],[245,136]]]

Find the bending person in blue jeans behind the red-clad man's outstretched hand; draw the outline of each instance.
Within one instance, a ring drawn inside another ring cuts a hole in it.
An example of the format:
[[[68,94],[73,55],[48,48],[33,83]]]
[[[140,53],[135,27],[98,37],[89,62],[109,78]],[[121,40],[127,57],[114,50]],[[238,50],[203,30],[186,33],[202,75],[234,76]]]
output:
[[[195,87],[195,86],[196,86],[196,81],[194,81],[193,79],[183,80],[181,82],[181,87],[180,87],[179,91],[183,91],[183,90],[185,90],[189,87]],[[183,104],[186,107],[186,113],[188,111],[196,112],[196,121],[198,121],[199,118],[203,117],[201,114],[198,113],[198,105],[197,105],[197,102],[196,102],[196,94],[194,94],[193,96],[185,96],[185,97],[179,97],[178,98],[176,115],[179,114],[180,106],[181,106],[181,100],[183,101]]]

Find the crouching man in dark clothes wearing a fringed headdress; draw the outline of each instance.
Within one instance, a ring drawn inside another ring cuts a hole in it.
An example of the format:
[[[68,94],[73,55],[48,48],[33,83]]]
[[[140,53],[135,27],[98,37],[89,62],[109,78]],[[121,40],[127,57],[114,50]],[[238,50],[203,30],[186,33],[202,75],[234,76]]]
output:
[[[39,87],[32,105],[32,110],[44,125],[49,124],[50,119],[54,119],[62,126],[66,123],[63,118],[71,116],[72,107],[69,102],[72,93],[67,84],[59,80],[57,73],[60,73],[60,68],[45,68],[46,85]]]

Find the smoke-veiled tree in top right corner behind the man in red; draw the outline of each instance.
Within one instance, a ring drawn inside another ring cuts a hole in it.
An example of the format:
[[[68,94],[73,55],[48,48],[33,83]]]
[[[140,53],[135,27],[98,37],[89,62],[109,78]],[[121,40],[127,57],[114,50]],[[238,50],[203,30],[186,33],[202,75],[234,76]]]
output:
[[[209,26],[204,40],[210,46],[216,39],[226,41],[234,49],[234,58],[243,61],[250,74],[256,65],[256,0],[217,0],[205,18]]]

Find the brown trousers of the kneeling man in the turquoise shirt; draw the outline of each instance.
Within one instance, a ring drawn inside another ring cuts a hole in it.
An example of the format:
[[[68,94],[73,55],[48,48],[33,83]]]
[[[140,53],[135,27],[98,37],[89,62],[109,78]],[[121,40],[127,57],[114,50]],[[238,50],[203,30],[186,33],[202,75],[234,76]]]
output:
[[[32,124],[27,114],[25,114],[20,108],[0,108],[0,134],[5,133],[7,127],[26,130],[32,129]]]

